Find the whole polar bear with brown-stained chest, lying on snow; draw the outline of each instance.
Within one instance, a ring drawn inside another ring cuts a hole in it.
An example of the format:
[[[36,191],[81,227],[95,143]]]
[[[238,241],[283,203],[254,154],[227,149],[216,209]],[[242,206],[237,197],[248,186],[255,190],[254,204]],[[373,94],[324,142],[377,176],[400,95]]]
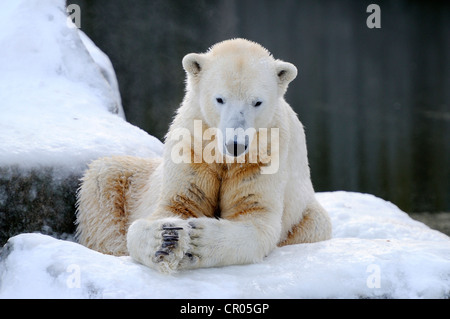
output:
[[[79,242],[171,273],[329,239],[303,126],[284,99],[296,67],[245,39],[182,64],[186,94],[162,158],[90,164],[78,192]]]

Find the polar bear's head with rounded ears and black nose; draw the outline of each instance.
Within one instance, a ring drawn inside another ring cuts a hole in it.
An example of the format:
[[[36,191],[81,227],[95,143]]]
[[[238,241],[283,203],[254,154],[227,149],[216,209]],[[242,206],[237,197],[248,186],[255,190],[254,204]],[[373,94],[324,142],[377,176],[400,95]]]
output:
[[[293,64],[244,39],[188,54],[183,67],[190,105],[200,107],[206,124],[222,132],[224,149],[233,156],[248,150],[252,132],[273,127],[288,84],[297,76]]]

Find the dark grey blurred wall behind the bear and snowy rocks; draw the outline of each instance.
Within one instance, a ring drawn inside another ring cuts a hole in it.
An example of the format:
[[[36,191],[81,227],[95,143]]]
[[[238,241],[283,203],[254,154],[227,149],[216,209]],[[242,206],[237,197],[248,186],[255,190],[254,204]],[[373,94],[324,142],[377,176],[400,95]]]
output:
[[[68,0],[111,59],[127,120],[163,140],[184,95],[183,56],[244,37],[299,76],[316,191],[367,192],[408,212],[450,211],[447,1]],[[381,29],[369,29],[370,3]]]

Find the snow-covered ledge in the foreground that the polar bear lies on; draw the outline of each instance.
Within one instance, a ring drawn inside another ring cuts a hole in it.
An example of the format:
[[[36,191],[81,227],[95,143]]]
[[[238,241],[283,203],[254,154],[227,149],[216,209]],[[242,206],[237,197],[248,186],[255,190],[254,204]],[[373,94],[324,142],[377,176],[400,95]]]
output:
[[[261,263],[163,275],[41,234],[11,238],[0,298],[449,298],[450,238],[372,195],[318,193],[333,239]]]

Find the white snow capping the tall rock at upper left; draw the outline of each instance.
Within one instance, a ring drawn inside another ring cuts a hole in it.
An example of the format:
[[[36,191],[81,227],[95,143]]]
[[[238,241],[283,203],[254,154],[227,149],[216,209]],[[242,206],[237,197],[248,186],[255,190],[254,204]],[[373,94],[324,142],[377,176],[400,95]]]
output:
[[[0,166],[80,172],[162,143],[127,123],[108,57],[68,25],[64,0],[0,4]]]

